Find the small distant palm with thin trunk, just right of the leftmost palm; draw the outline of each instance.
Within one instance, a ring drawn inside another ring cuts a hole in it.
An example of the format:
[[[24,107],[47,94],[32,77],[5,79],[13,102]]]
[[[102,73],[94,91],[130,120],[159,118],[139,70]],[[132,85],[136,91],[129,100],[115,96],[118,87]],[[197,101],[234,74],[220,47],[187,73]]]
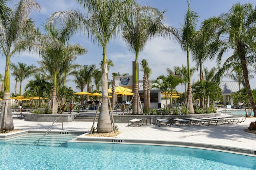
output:
[[[28,78],[31,74],[35,73],[36,66],[34,64],[27,65],[26,63],[20,63],[10,64],[10,69],[13,70],[11,73],[12,76],[17,77],[18,81],[20,82],[20,95],[21,95],[21,85],[22,85],[22,80]]]

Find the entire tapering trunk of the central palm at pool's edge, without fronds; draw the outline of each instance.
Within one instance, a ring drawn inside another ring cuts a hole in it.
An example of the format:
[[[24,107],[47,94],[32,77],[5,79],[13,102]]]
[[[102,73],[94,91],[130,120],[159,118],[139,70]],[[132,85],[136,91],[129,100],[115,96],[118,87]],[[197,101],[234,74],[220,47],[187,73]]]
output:
[[[98,118],[97,132],[110,133],[112,132],[112,121],[109,115],[108,108],[108,63],[106,56],[106,47],[103,47],[103,63],[102,68],[102,104],[100,105],[100,115]]]

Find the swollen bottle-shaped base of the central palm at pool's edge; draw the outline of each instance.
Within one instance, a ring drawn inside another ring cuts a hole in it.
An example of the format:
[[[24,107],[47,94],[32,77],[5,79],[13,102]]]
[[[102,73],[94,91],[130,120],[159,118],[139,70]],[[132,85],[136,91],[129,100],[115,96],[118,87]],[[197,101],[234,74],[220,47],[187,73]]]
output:
[[[98,133],[110,133],[112,132],[112,122],[109,114],[108,96],[102,97],[102,103],[100,105],[100,115],[97,124]]]

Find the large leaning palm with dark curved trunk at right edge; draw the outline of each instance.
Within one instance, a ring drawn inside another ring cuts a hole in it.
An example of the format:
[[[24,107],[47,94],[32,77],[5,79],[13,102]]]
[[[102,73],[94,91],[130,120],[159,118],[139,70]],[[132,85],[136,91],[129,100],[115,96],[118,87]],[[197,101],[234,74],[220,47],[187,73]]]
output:
[[[250,104],[256,113],[256,106],[252,98],[252,92],[248,77],[248,65],[255,63],[256,34],[255,18],[256,8],[252,4],[232,5],[232,8],[219,17],[211,17],[202,22],[202,29],[208,36],[214,37],[215,45],[219,47],[217,61],[220,64],[222,55],[228,49],[234,49],[233,55],[228,57],[222,65],[220,74],[240,63]],[[228,37],[228,38],[227,38]]]

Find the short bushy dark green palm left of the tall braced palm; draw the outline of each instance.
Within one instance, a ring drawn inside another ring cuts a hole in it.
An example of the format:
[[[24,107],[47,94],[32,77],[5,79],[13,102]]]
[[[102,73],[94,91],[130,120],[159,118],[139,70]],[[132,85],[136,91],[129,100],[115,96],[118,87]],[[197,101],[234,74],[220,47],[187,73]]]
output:
[[[25,86],[25,96],[38,96],[38,107],[40,107],[40,99],[48,98],[51,93],[52,84],[48,82],[44,76],[36,74],[34,80],[30,80]]]

